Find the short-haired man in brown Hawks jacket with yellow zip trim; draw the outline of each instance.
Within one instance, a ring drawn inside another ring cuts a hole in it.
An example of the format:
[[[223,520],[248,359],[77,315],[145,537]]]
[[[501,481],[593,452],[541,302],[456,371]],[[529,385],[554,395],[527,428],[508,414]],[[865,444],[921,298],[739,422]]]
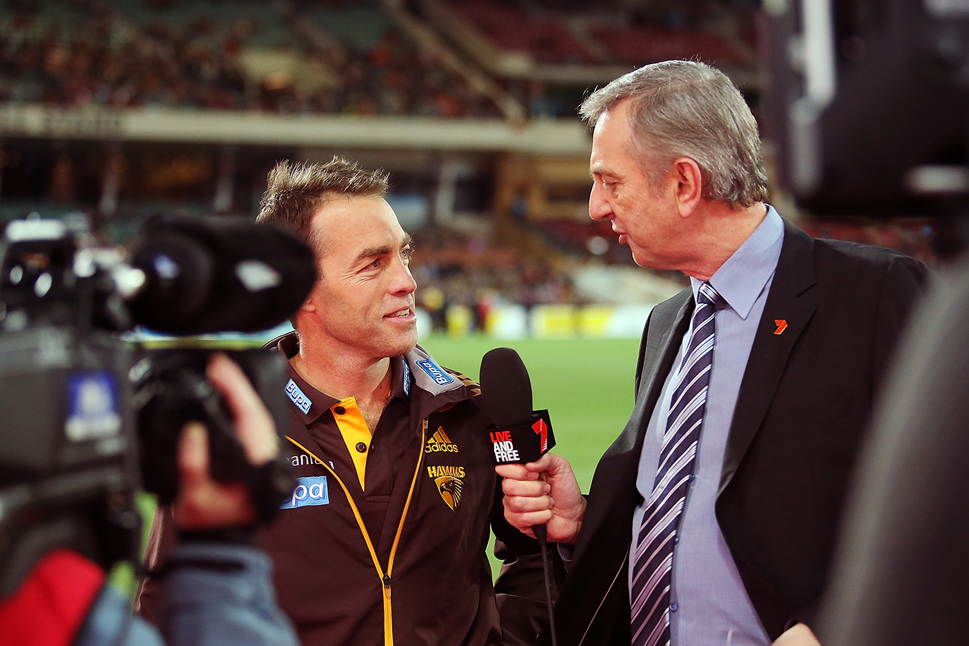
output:
[[[480,389],[417,345],[411,241],[386,191],[386,174],[339,158],[269,176],[258,221],[310,242],[321,277],[297,332],[274,341],[290,363],[298,484],[258,543],[305,646],[514,643],[498,620],[489,525],[509,553],[537,548],[504,520]],[[172,533],[166,514],[149,566]]]

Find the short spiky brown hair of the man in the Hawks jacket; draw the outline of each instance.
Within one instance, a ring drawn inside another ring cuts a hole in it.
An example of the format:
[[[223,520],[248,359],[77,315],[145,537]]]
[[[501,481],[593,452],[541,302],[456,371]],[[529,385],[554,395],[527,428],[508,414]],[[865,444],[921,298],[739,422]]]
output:
[[[326,164],[284,160],[269,173],[256,221],[286,229],[322,254],[326,241],[313,235],[313,215],[320,207],[340,197],[382,198],[388,185],[386,171],[368,171],[343,157]]]

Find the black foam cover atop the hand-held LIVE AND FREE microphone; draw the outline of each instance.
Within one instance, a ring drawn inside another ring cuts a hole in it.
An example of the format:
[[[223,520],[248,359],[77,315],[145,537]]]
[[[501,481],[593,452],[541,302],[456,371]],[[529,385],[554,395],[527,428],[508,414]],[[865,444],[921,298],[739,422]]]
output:
[[[497,427],[529,424],[532,382],[521,357],[510,347],[498,347],[482,358],[482,402]]]

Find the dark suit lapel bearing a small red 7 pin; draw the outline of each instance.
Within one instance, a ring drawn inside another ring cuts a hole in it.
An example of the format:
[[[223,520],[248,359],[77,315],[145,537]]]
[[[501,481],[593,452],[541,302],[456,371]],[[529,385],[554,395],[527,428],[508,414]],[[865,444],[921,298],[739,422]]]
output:
[[[757,435],[791,350],[814,314],[816,304],[807,291],[814,282],[814,240],[785,220],[777,270],[737,395],[718,496],[730,484]]]

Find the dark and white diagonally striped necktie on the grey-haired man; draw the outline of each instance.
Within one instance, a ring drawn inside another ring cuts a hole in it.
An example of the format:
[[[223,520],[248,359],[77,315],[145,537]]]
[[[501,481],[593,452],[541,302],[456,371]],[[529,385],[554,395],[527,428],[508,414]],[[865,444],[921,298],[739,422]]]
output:
[[[642,516],[630,599],[633,646],[670,643],[670,582],[676,529],[693,480],[713,366],[713,315],[722,299],[703,282],[693,334],[676,374],[656,480]]]

